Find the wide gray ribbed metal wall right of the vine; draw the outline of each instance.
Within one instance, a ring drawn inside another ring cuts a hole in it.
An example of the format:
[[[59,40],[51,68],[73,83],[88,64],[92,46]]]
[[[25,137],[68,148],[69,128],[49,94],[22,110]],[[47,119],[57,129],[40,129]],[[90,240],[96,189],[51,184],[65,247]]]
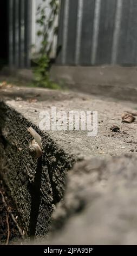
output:
[[[137,64],[136,0],[61,0],[57,64]]]

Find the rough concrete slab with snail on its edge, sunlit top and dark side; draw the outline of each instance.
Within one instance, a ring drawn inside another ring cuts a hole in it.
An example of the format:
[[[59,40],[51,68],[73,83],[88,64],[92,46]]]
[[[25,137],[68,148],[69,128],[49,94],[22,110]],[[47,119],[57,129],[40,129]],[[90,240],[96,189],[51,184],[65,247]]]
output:
[[[121,113],[135,112],[136,104],[35,88],[2,88],[0,93],[1,176],[10,188],[25,234],[48,233],[52,211],[63,197],[67,171],[76,161],[131,150],[137,154],[136,121],[121,124]],[[97,136],[87,137],[87,131],[40,131],[39,113],[50,112],[51,106],[67,113],[98,111]],[[39,160],[28,153],[31,136],[25,127],[30,125],[42,137],[44,153]],[[110,131],[112,125],[118,125],[120,132]]]

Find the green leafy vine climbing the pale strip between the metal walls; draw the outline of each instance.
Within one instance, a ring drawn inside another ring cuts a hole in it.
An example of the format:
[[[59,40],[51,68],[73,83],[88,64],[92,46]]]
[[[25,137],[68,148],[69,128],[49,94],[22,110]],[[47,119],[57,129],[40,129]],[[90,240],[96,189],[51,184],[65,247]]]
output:
[[[46,2],[46,0],[42,0]],[[47,9],[50,9],[49,15],[47,15]],[[35,59],[35,85],[39,87],[47,87],[52,89],[59,88],[58,84],[55,84],[49,78],[50,53],[53,47],[53,41],[49,43],[49,31],[53,29],[53,36],[58,33],[58,27],[54,27],[54,22],[58,14],[58,1],[50,0],[48,6],[45,4],[38,5],[37,8],[37,24],[40,26],[40,30],[37,31],[37,36],[41,38],[41,47],[38,58]]]

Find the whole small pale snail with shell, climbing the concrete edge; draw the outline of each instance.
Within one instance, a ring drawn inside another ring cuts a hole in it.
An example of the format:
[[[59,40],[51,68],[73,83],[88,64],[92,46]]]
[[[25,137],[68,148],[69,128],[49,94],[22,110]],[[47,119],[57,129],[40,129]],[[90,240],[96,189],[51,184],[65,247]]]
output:
[[[38,159],[41,157],[43,149],[41,136],[32,127],[29,127],[27,130],[34,137],[29,143],[29,154]]]

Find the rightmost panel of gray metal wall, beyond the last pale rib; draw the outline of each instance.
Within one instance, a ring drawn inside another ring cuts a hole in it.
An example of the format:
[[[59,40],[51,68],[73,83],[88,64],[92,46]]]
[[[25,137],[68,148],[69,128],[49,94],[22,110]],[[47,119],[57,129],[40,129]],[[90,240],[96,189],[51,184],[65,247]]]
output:
[[[137,1],[124,0],[117,59],[123,65],[136,64],[136,14]]]

